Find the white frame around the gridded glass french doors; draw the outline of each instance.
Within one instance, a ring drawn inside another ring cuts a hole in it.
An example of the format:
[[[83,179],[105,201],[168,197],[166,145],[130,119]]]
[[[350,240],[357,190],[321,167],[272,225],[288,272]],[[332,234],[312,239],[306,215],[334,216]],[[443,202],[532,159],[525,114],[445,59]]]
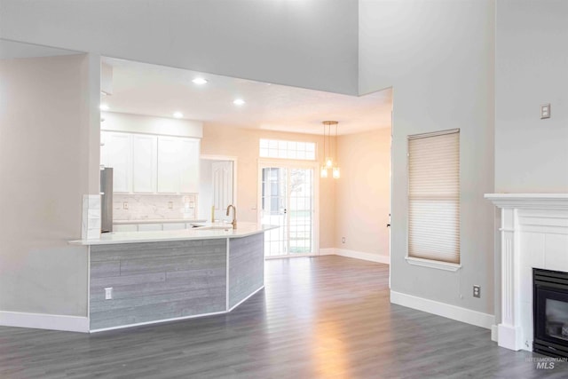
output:
[[[289,258],[289,257],[315,257],[319,256],[319,162],[298,161],[292,159],[258,159],[258,178],[256,181],[256,223],[260,224],[263,211],[263,167],[284,167],[287,169],[312,169],[313,170],[313,252],[312,254],[295,254],[294,256],[277,256],[264,257],[264,259],[272,258]]]

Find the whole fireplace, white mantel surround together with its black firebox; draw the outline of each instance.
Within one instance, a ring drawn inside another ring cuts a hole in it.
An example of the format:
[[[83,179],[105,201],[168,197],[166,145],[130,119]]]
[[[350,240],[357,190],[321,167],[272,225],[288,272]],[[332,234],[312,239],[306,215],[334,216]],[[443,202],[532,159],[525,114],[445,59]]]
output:
[[[568,297],[549,272],[568,272],[568,193],[486,193],[485,198],[501,209],[501,247],[496,251],[501,267],[495,283],[501,306],[493,340],[511,350],[544,348],[549,351],[540,351],[543,354],[565,357],[561,353],[568,349],[556,347],[567,342],[560,328],[564,320],[556,313],[568,304]],[[546,273],[540,278],[544,283],[533,283],[533,269]],[[536,313],[535,302],[540,303]],[[535,331],[539,316],[540,331]],[[535,339],[540,340],[538,346]]]

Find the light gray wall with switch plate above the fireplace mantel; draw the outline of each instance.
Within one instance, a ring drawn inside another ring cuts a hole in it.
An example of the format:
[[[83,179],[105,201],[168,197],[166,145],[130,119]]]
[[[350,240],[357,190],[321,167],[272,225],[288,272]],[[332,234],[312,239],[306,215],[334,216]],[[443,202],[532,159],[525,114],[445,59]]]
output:
[[[566,193],[568,2],[500,0],[496,16],[495,191]]]

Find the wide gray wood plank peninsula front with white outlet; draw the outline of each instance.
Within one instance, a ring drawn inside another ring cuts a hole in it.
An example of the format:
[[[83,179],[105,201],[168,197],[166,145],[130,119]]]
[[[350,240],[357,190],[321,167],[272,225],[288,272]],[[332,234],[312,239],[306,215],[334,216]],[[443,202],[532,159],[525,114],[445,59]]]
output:
[[[91,246],[91,330],[225,312],[226,265],[224,239]]]

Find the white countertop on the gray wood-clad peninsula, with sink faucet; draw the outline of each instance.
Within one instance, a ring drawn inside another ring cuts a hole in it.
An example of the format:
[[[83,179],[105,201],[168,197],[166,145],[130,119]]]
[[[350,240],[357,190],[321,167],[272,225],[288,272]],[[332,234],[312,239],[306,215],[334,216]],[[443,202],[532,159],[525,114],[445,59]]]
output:
[[[121,233],[102,233],[100,238],[92,240],[69,241],[72,245],[107,245],[118,243],[138,243],[138,242],[164,242],[164,241],[188,241],[188,240],[212,240],[223,238],[241,238],[257,233],[264,233],[267,230],[276,229],[279,226],[259,225],[256,223],[239,223],[233,229],[231,224],[221,223],[196,223],[204,225],[203,228],[193,228],[172,231],[157,232],[121,232]]]

